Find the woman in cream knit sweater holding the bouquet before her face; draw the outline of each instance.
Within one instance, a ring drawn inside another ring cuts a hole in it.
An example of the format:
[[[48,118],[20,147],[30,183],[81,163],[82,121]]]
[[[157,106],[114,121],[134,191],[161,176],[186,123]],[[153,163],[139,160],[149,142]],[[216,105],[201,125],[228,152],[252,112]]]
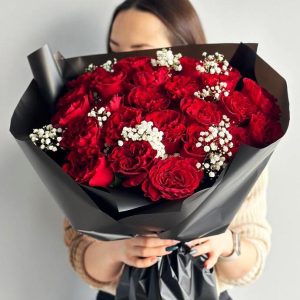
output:
[[[120,52],[205,42],[200,20],[188,0],[127,0],[115,10],[107,48]],[[262,272],[271,234],[266,220],[266,180],[264,171],[225,233],[188,243],[191,255],[208,254],[205,267],[215,267],[222,300],[231,299],[227,289],[248,284]],[[178,243],[157,236],[98,241],[76,232],[67,219],[64,228],[74,270],[91,287],[110,294],[116,292],[124,264],[149,267],[157,262],[157,256],[174,251]],[[236,249],[238,238],[240,247]],[[100,291],[98,299],[113,299],[104,295]]]

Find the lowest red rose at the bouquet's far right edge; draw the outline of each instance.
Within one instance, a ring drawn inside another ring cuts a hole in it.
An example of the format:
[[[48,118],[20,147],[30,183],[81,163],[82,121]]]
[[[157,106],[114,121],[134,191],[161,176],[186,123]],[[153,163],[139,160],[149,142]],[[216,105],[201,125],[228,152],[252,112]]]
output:
[[[252,145],[256,147],[268,146],[283,135],[280,123],[270,120],[263,113],[257,113],[251,117],[248,130]]]

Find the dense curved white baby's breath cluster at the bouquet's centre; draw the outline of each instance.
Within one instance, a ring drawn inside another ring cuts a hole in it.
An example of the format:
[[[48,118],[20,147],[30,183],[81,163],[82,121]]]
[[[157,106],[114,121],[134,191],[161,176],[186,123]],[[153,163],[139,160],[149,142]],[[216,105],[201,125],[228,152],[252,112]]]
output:
[[[153,127],[153,122],[142,121],[137,124],[134,128],[123,127],[121,135],[124,137],[125,141],[147,141],[151,147],[157,151],[155,157],[161,157],[165,159],[167,157],[165,151],[165,145],[161,142],[164,133],[159,131],[158,128]],[[118,145],[123,146],[123,141],[119,140]]]

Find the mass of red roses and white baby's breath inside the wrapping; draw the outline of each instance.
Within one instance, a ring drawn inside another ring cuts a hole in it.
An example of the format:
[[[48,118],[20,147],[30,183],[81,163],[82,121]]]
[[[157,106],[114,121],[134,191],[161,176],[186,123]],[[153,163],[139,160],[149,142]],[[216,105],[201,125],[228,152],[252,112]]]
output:
[[[283,135],[276,98],[218,52],[111,59],[66,87],[32,142],[63,153],[78,183],[139,187],[152,201],[185,199],[212,185],[241,144]]]

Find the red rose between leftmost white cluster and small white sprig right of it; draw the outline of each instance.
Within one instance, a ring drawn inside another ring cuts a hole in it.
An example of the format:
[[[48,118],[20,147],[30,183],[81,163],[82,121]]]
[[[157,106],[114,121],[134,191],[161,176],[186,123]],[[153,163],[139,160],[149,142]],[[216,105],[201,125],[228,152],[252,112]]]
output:
[[[91,148],[100,146],[100,127],[94,117],[85,117],[69,123],[64,131],[61,146],[65,149]]]

